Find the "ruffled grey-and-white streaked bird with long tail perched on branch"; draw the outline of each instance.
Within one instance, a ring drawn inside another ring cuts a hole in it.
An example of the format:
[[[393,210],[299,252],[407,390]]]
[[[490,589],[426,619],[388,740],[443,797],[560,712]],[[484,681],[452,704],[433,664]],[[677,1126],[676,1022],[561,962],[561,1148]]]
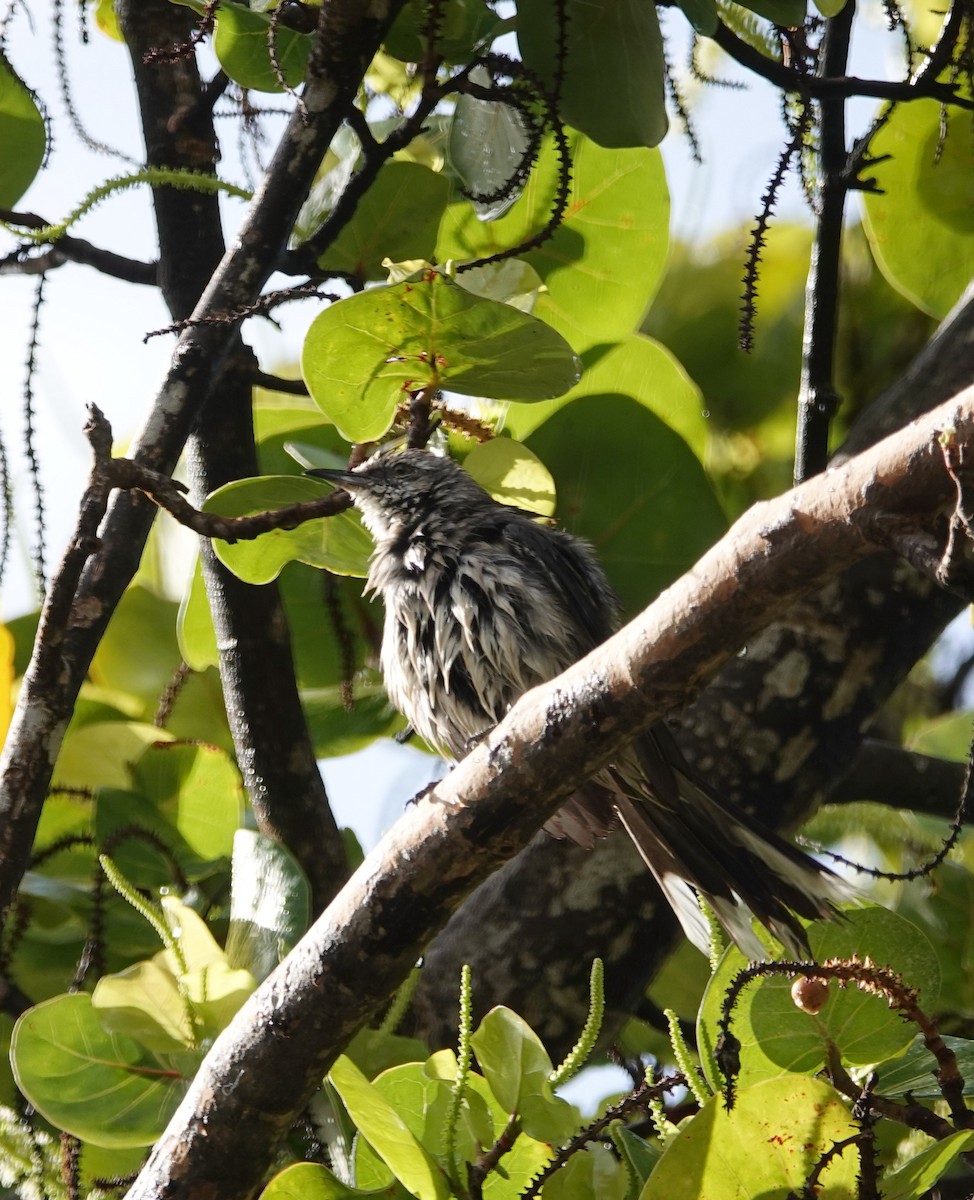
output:
[[[341,487],[375,547],[366,589],[384,605],[380,666],[390,700],[443,757],[458,761],[529,689],[621,625],[593,548],[495,500],[457,462],[425,449],[379,452],[311,475]],[[545,826],[591,848],[621,823],[690,940],[708,953],[699,900],[750,959],[756,917],[793,958],[800,918],[832,918],[848,886],[740,806],[721,799],[657,722]]]

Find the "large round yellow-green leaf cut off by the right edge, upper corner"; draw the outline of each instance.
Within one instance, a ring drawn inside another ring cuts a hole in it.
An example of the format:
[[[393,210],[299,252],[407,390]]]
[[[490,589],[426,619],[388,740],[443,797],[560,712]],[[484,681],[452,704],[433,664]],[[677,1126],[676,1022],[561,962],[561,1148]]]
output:
[[[866,235],[883,275],[924,312],[945,317],[970,282],[974,156],[970,119],[940,106],[897,104],[870,145],[882,193],[864,192]]]

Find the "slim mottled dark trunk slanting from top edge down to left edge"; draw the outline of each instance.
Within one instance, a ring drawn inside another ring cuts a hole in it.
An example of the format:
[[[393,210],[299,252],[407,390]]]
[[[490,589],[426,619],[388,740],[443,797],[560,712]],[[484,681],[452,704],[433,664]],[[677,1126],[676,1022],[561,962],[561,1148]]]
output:
[[[366,65],[372,60],[402,0],[333,0],[320,10],[303,101],[306,121],[294,115],[265,179],[224,254],[194,317],[233,312],[253,304],[275,269],[314,173],[338,130]],[[172,472],[224,358],[235,343],[233,326],[197,325],[176,343],[170,370],[136,442],[133,457]],[[38,678],[48,656],[41,642],[0,757],[0,912],[6,911],[23,875],[50,782],[64,730],[89,662],[122,592],[136,572],[155,508],[144,498],[119,493],[100,530],[102,550],[91,557],[77,588],[53,685]],[[59,594],[66,582],[54,584]],[[43,635],[42,635],[43,636]]]

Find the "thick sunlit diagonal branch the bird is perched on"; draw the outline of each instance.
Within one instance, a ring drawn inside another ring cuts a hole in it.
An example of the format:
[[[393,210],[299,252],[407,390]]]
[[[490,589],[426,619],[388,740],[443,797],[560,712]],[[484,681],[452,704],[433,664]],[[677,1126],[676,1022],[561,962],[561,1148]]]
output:
[[[528,692],[407,812],[217,1039],[132,1200],[253,1194],[342,1046],[461,900],[581,780],[686,702],[798,596],[867,554],[862,530],[877,512],[926,522],[951,502],[937,445],[944,428],[970,444],[974,389],[841,469],[756,505],[615,637]],[[247,1088],[235,1086],[241,1076]]]

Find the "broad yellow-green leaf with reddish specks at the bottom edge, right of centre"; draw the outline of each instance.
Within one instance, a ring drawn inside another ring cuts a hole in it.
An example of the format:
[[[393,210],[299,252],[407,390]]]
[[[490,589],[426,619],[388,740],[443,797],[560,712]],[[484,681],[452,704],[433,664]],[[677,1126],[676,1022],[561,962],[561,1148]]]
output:
[[[730,1112],[714,1096],[667,1144],[641,1200],[798,1194],[819,1157],[855,1133],[842,1097],[816,1079],[792,1075],[745,1088]],[[822,1195],[852,1200],[858,1166],[852,1148],[836,1156],[822,1174]]]

